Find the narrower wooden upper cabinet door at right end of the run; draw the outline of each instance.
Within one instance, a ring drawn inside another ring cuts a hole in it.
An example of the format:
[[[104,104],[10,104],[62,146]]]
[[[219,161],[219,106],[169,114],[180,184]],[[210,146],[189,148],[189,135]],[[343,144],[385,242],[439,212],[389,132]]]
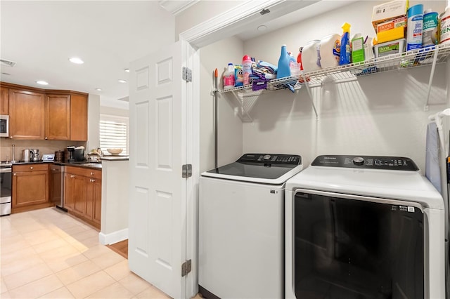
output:
[[[70,95],[46,95],[46,140],[70,140]]]

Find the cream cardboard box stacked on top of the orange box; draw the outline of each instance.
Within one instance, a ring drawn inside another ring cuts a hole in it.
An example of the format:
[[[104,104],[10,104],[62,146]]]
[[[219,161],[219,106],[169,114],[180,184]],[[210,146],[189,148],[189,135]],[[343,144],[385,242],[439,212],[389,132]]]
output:
[[[372,25],[378,33],[377,25],[397,18],[406,18],[409,0],[394,0],[373,6]]]

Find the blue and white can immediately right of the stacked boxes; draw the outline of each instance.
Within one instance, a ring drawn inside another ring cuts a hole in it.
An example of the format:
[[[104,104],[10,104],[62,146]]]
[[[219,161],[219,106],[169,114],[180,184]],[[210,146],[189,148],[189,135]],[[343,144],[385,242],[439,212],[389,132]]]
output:
[[[423,4],[408,9],[406,26],[406,51],[422,48]]]

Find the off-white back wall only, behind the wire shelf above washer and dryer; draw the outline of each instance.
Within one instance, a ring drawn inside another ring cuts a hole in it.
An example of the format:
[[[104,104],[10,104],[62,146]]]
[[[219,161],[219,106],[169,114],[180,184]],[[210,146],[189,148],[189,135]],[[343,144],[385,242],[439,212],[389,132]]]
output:
[[[370,18],[373,5],[378,3],[359,1],[245,41],[244,52],[277,64],[281,44],[297,55],[299,46],[307,41],[340,33],[343,22],[352,24],[352,33],[374,35]],[[414,4],[411,1],[411,6]],[[443,11],[445,4],[427,1],[425,6]],[[437,67],[428,112],[423,107],[430,67],[374,74],[345,84],[328,82],[323,88],[314,88],[318,121],[305,88],[297,93],[266,93],[252,110],[255,121],[243,124],[243,152],[301,154],[305,165],[318,154],[399,155],[412,158],[424,170],[428,116],[448,107],[445,68]]]

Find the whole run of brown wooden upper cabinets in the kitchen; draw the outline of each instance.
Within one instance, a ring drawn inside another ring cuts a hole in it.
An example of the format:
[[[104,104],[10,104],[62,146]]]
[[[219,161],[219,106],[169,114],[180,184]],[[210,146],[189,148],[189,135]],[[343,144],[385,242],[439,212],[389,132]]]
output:
[[[87,140],[87,93],[0,84],[1,109],[6,109],[6,113],[0,114],[10,116],[10,138]],[[8,101],[4,104],[6,91]],[[3,108],[4,105],[6,108]]]

